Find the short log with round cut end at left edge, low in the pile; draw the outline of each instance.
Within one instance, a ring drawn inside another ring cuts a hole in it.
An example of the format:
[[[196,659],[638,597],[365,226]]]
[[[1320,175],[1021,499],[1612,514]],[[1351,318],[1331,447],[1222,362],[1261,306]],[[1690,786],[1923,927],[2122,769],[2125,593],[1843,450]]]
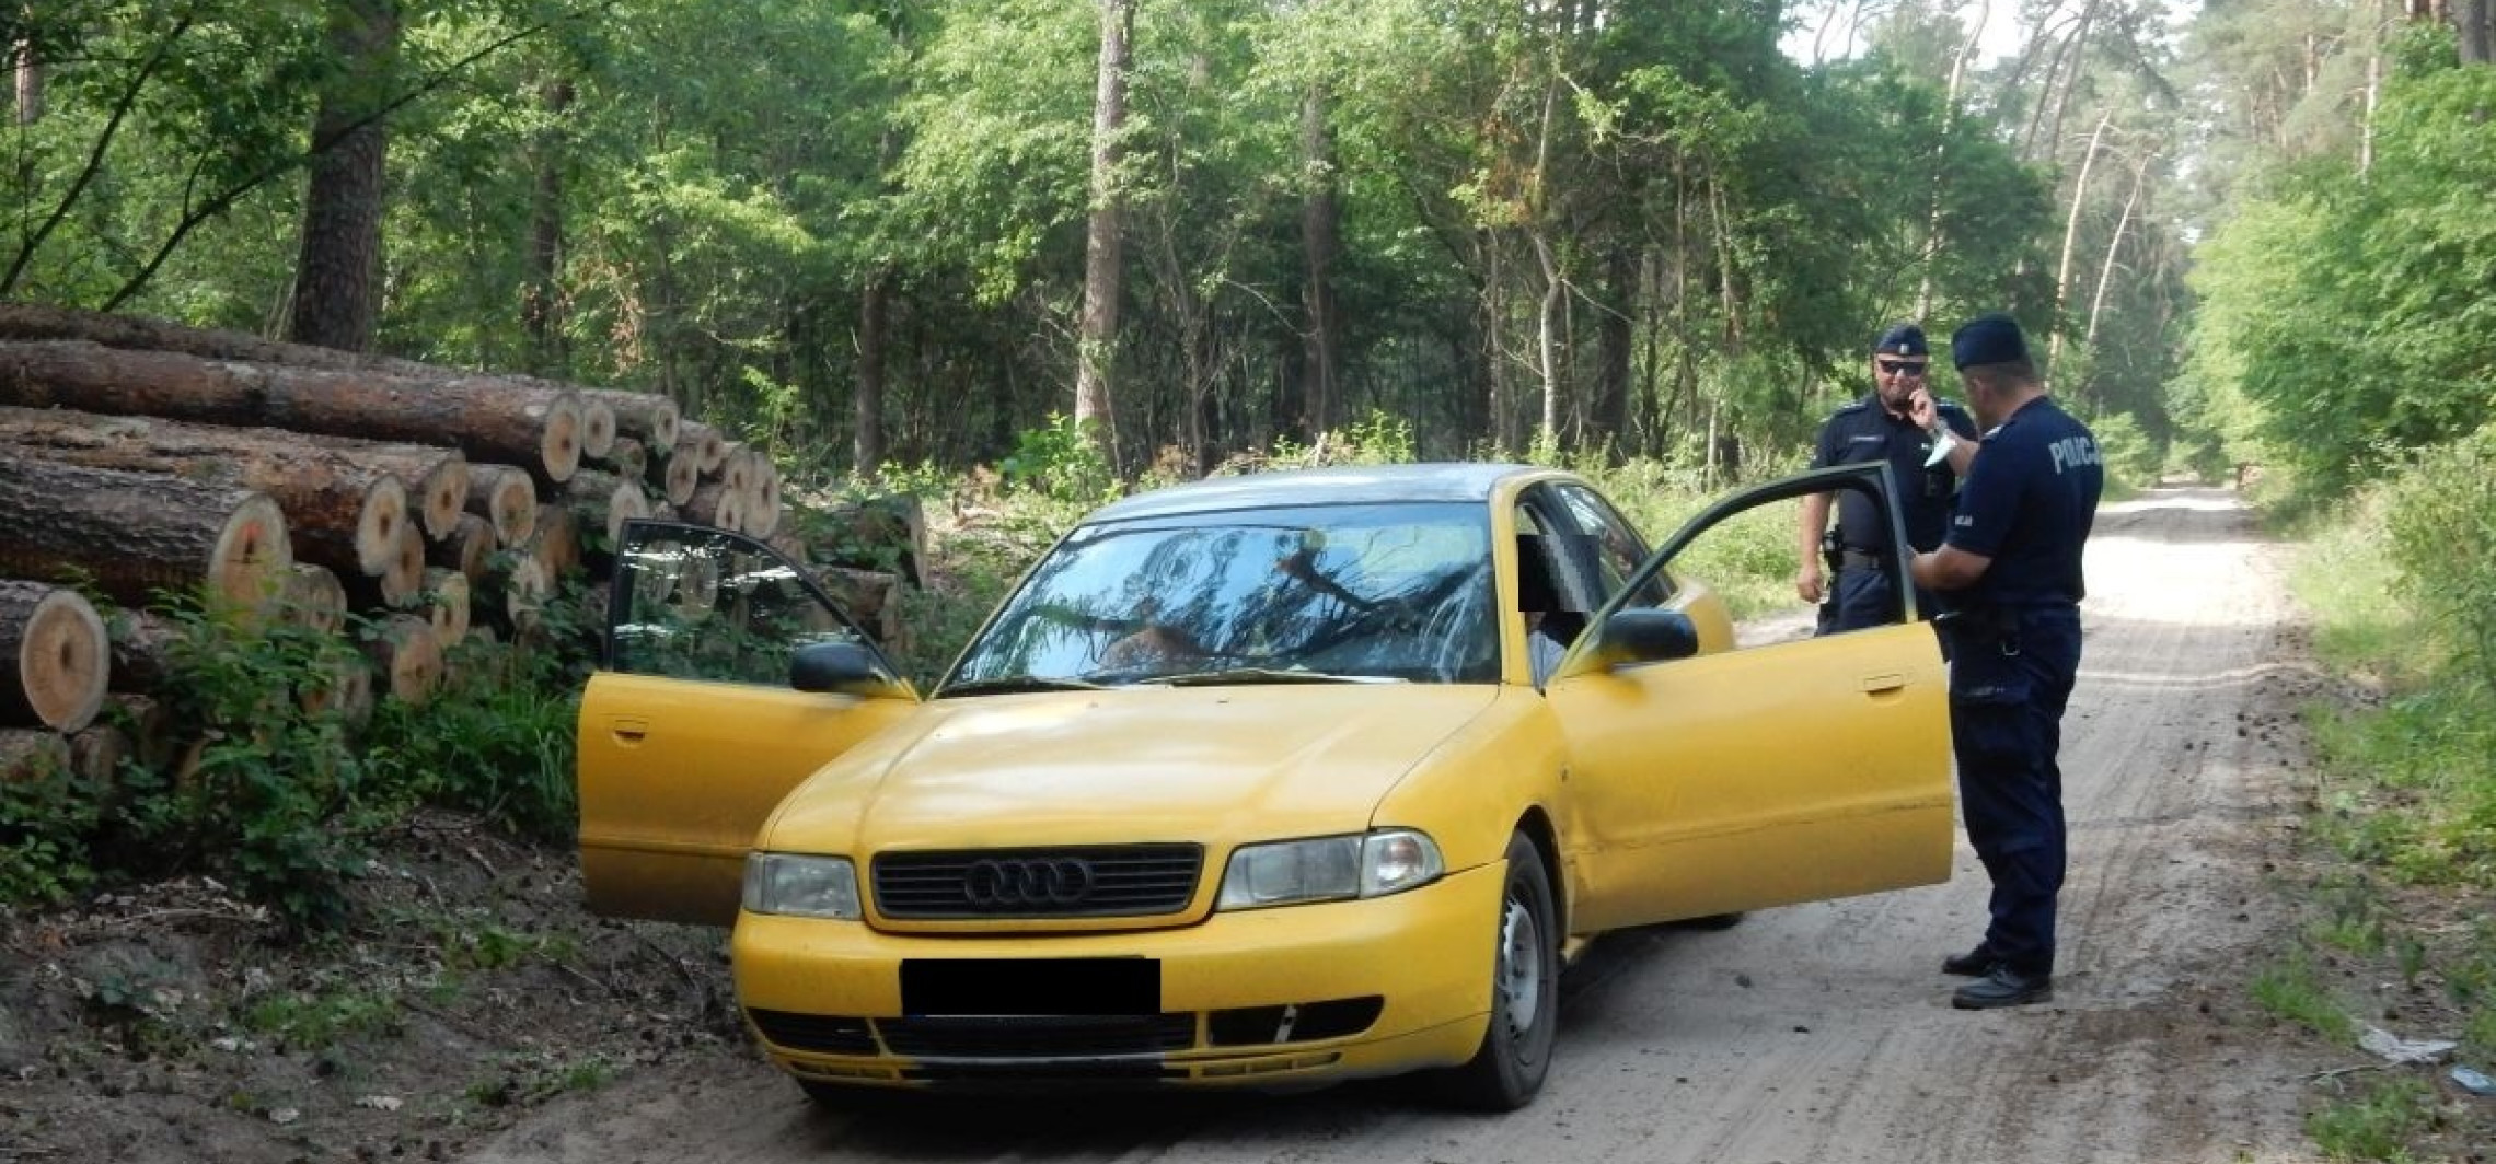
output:
[[[105,621],[77,591],[0,578],[0,725],[75,733],[112,673]]]

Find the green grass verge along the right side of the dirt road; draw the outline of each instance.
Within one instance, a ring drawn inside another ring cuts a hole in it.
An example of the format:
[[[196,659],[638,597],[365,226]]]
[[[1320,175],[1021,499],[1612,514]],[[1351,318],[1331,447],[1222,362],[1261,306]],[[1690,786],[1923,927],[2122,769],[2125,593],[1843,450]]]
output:
[[[2404,596],[2389,531],[2419,521],[2396,481],[2304,531],[2291,588],[2314,611],[2316,656],[2334,693],[2301,715],[2316,745],[2311,835],[2339,865],[2304,902],[2309,950],[2251,982],[2271,1014],[2334,1044],[2356,1019],[2324,990],[2314,960],[2354,960],[2369,980],[2399,977],[2401,1019],[2459,1037],[2461,1062],[2496,1059],[2496,693],[2466,628],[2421,616]],[[2436,501],[2444,506],[2446,501]],[[2466,583],[2496,591],[2496,578]],[[2336,955],[2324,955],[2324,952]],[[2441,987],[2441,990],[2436,990]],[[2306,1134],[2331,1159],[2446,1159],[2451,1142],[2489,1142],[2496,1114],[2439,1107],[2436,1067],[2386,1067],[2319,1104]]]

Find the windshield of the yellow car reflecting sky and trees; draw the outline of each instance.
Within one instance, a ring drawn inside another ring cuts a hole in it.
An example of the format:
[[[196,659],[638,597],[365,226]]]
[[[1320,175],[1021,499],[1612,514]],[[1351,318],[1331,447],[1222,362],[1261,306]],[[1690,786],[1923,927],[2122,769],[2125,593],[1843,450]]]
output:
[[[1478,503],[1298,506],[1076,528],[946,688],[1495,683]]]

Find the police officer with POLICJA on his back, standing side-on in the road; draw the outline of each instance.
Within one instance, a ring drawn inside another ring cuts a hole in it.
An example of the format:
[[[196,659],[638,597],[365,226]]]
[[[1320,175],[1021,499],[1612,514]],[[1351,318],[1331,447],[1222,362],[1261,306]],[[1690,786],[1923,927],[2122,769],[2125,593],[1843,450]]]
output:
[[[1949,361],[1987,431],[1949,536],[1909,571],[1952,601],[1949,743],[1967,840],[1994,887],[1984,942],[1942,960],[1942,972],[1977,980],[1952,1007],[2019,1007],[2054,997],[2057,753],[2079,673],[2079,556],[2104,469],[2097,436],[2044,394],[2012,317],[1972,319],[1949,336]]]

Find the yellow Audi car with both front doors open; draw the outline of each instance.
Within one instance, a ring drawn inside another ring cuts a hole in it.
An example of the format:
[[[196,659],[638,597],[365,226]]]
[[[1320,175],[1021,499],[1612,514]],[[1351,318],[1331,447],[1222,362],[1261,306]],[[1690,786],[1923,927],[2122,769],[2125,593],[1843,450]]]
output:
[[[1670,568],[1837,489],[1897,521],[1879,466],[1660,553],[1533,466],[1163,489],[929,698],[766,546],[636,521],[579,710],[589,902],[734,922],[739,1007],[826,1102],[1435,1069],[1515,1109],[1592,935],[1949,875],[1932,628],[1740,646]]]

